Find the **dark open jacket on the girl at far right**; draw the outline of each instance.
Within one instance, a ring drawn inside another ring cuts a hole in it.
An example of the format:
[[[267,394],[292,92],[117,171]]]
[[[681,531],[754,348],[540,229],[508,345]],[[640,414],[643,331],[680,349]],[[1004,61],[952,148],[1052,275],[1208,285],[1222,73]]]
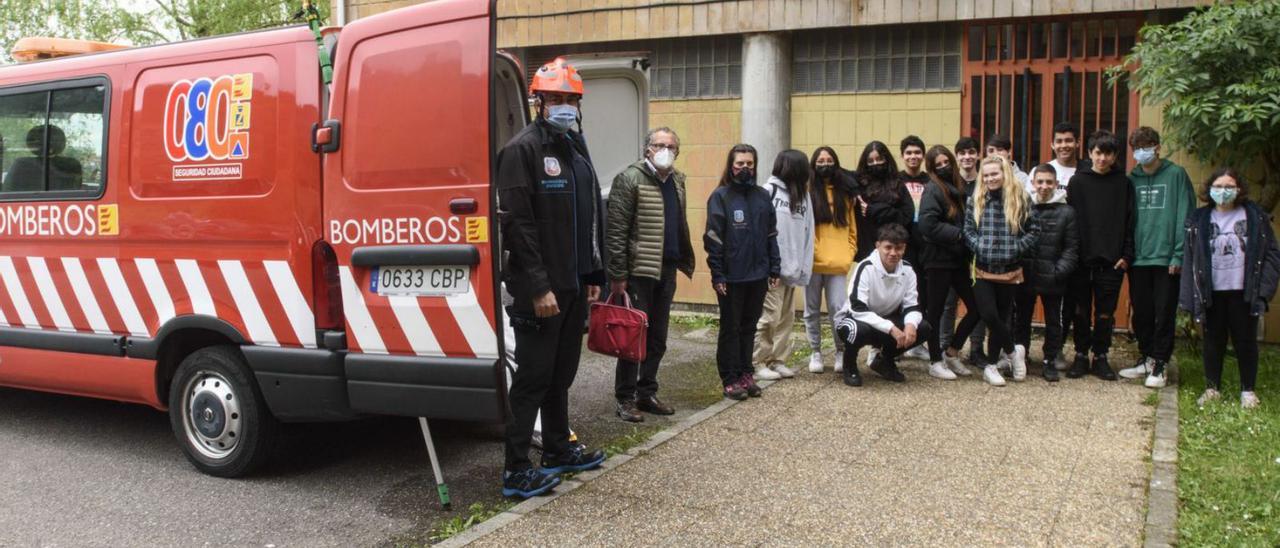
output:
[[[1244,302],[1254,316],[1267,311],[1280,282],[1280,248],[1276,248],[1271,215],[1252,201],[1244,202],[1248,220],[1244,245]],[[1199,207],[1187,218],[1187,243],[1183,251],[1181,288],[1178,305],[1204,321],[1204,310],[1213,303],[1213,265],[1210,250],[1210,214],[1213,206]]]

